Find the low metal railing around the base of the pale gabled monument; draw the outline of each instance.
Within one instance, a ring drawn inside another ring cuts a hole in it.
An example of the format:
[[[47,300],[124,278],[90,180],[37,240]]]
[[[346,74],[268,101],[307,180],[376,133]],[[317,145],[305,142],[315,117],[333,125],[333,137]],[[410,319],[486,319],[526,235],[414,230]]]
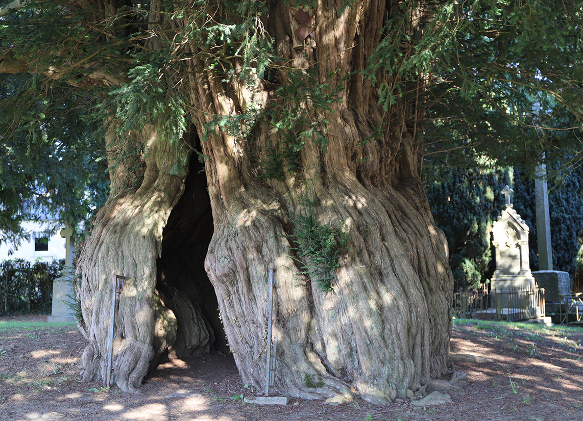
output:
[[[545,317],[544,288],[454,293],[454,314],[464,319],[517,321]]]

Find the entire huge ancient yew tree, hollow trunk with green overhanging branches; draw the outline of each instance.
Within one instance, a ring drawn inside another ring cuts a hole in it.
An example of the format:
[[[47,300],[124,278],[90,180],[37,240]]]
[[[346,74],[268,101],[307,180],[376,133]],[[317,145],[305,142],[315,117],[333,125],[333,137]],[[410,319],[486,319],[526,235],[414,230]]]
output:
[[[20,94],[44,107],[37,127],[70,106],[99,122],[94,133],[110,164],[111,193],[76,266],[88,341],[83,378],[107,377],[118,274],[127,277],[113,345],[118,387],[136,390],[167,352],[185,358],[227,344],[245,383],[264,387],[272,268],[280,393],[356,393],[382,404],[447,374],[452,275],[423,190],[422,135],[431,109],[441,109],[430,116],[443,122],[472,95],[477,108],[507,104],[508,121],[522,115],[526,101],[496,96],[528,85],[518,72],[492,81],[518,56],[526,60],[507,29],[532,34],[520,26],[532,11],[502,3],[64,0],[2,8],[0,72],[28,75]],[[553,13],[550,20],[567,10]],[[480,26],[473,36],[484,31],[484,45],[510,51],[489,53],[484,75],[459,59],[470,54],[472,39],[460,34],[471,25]],[[552,82],[531,70],[529,83]],[[459,80],[469,82],[457,103]],[[460,121],[472,128],[463,118],[452,127]],[[464,136],[450,140],[467,140],[479,154],[482,143]],[[431,151],[451,149],[437,140]],[[550,143],[540,141],[538,156]]]

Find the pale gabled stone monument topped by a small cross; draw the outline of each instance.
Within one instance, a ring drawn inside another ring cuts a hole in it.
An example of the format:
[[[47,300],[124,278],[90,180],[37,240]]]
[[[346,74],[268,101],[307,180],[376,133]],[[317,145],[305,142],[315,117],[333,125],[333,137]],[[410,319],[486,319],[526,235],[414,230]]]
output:
[[[506,208],[492,228],[492,244],[496,249],[496,271],[490,280],[490,286],[492,290],[497,291],[535,287],[535,278],[532,276],[528,257],[529,228],[512,208],[510,193],[513,192],[514,190],[508,186],[502,190]]]

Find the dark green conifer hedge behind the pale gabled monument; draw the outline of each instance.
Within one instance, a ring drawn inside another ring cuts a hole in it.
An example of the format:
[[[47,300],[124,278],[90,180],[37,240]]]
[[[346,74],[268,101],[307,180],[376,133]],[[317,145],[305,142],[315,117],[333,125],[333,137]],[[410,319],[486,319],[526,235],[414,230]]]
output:
[[[531,270],[539,270],[536,241],[535,183],[518,168],[480,170],[450,168],[428,179],[427,197],[434,219],[447,236],[449,263],[456,288],[475,288],[495,268],[491,227],[504,209],[504,185],[514,189],[512,203],[530,228]],[[574,276],[583,237],[583,168],[563,174],[549,185],[553,269]],[[583,252],[581,253],[583,260]]]

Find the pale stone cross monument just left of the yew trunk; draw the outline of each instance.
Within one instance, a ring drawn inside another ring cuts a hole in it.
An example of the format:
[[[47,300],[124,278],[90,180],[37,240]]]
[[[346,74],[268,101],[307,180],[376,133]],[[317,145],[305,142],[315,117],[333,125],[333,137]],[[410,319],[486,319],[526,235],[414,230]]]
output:
[[[52,281],[52,311],[51,316],[47,317],[48,322],[75,321],[73,311],[66,302],[71,301],[73,296],[73,253],[72,244],[73,230],[69,225],[59,232],[65,238],[65,267],[61,271],[61,276]]]

